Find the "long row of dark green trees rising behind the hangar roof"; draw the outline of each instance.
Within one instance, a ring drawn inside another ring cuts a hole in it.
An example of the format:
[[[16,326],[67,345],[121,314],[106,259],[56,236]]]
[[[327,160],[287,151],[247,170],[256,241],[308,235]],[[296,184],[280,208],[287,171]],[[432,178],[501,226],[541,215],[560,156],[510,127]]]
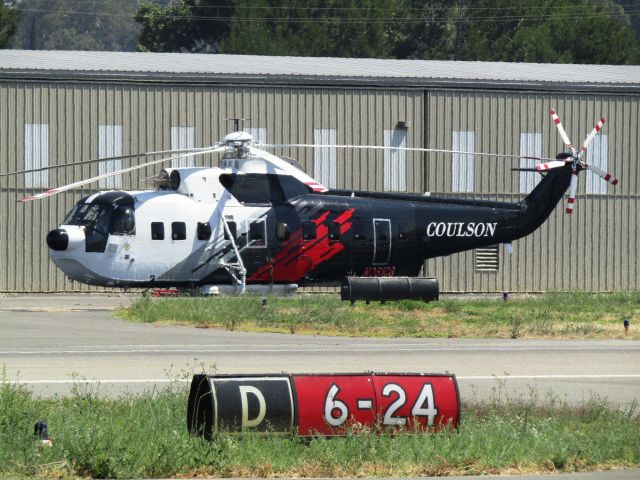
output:
[[[628,12],[613,0],[174,0],[136,19],[150,51],[635,64]]]

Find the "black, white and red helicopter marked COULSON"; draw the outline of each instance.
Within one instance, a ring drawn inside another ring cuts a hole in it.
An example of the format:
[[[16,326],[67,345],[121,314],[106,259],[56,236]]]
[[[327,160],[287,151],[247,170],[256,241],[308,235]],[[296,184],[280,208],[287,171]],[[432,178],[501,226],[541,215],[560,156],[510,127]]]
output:
[[[614,185],[618,182],[584,158],[605,120],[596,124],[577,151],[556,112],[551,114],[569,151],[555,159],[525,157],[543,162],[530,169],[543,178],[518,203],[329,190],[295,161],[267,151],[327,145],[258,145],[242,131],[207,148],[114,157],[164,155],[20,201],[43,199],[185,153],[220,152],[219,167],[165,168],[153,178],[153,190],[106,191],[80,199],[60,227],[48,233],[50,258],[69,278],[86,284],[177,287],[204,293],[339,282],[346,275],[412,277],[426,259],[529,235],[567,189],[566,211],[571,213],[582,170]]]

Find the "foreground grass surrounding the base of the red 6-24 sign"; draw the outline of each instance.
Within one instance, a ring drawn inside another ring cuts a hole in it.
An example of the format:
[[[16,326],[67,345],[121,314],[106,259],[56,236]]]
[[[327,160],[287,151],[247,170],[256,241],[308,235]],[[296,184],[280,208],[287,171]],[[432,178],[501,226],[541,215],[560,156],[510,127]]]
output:
[[[36,398],[0,383],[0,477],[345,477],[573,472],[640,464],[635,405],[495,396],[465,405],[460,430],[342,438],[223,435],[186,428],[184,388],[102,398],[79,386]],[[31,435],[46,419],[53,446]]]

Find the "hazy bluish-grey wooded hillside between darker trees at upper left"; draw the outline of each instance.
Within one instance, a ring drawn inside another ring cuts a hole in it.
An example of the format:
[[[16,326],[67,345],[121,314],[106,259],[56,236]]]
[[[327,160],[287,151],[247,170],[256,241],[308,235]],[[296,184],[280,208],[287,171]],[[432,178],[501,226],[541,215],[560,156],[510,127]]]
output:
[[[1,0],[0,0],[1,1]],[[29,50],[134,50],[135,5],[127,0],[22,0],[17,46]]]

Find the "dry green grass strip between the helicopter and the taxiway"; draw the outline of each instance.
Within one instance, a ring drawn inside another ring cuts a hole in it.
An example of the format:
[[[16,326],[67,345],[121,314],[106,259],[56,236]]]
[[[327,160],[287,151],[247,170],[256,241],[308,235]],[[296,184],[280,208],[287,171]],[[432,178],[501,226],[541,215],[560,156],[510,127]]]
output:
[[[199,328],[380,337],[640,339],[640,293],[553,293],[536,297],[358,302],[337,296],[143,297],[122,318]],[[625,333],[623,321],[631,328]]]

